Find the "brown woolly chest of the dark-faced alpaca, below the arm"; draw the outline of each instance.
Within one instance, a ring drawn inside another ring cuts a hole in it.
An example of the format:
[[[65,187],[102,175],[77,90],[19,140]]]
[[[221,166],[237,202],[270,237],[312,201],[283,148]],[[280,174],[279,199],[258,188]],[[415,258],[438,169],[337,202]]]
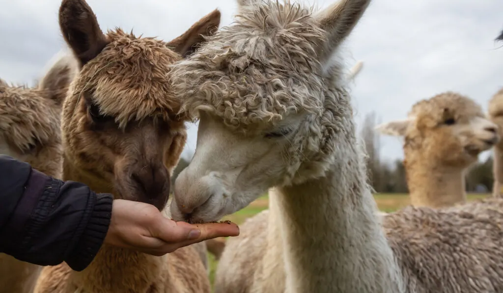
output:
[[[35,292],[209,292],[206,270],[191,246],[151,256],[104,245],[90,267],[45,267]]]

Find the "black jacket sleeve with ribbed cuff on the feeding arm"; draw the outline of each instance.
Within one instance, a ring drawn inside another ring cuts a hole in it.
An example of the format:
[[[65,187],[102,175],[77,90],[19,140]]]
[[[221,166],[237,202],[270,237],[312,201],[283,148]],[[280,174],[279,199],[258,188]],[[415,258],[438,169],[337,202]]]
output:
[[[0,252],[39,265],[65,261],[85,269],[100,249],[112,215],[111,194],[49,177],[0,155]]]

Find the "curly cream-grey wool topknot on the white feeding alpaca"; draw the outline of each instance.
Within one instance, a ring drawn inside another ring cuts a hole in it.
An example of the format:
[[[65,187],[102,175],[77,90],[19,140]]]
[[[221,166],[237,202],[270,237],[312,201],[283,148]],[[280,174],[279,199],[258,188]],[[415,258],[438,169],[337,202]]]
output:
[[[270,127],[300,111],[319,115],[325,84],[316,45],[326,39],[300,4],[256,4],[188,60],[172,84],[191,119],[203,110],[241,131]],[[253,127],[252,127],[253,125]]]

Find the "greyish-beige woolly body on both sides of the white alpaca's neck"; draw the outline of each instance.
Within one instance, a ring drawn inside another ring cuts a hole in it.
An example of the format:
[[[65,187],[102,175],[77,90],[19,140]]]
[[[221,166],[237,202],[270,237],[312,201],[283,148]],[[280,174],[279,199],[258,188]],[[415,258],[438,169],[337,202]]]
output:
[[[383,217],[388,243],[409,282],[406,292],[502,290],[503,268],[498,264],[503,257],[502,211],[503,200],[487,199],[440,210],[410,206]],[[215,291],[285,291],[284,246],[278,234],[268,237],[279,228],[271,224],[277,223],[269,219],[271,214],[266,210],[247,219],[239,236],[227,240]],[[487,239],[493,240],[487,243]],[[481,243],[486,243],[483,250],[478,249]],[[470,282],[468,276],[476,281]]]

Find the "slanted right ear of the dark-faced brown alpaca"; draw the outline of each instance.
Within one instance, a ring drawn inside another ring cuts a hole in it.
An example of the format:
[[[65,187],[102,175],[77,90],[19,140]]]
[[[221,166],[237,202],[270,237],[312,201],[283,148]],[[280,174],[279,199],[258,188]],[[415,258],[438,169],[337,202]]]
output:
[[[197,23],[192,25],[185,33],[167,43],[180,55],[187,57],[194,53],[199,45],[205,41],[205,37],[213,36],[220,25],[220,11],[215,9]]]

